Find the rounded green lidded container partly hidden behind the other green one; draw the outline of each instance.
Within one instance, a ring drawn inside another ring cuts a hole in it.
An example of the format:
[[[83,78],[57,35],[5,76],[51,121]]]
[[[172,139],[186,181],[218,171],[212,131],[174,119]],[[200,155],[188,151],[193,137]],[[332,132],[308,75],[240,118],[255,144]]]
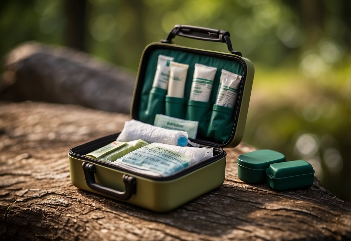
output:
[[[273,164],[285,162],[285,156],[278,151],[257,150],[238,157],[238,177],[249,183],[265,183],[266,170]]]

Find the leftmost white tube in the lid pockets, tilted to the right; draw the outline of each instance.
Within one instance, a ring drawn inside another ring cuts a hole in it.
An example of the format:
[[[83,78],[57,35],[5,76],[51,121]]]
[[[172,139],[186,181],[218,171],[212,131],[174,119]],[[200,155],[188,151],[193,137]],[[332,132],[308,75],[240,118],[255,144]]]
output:
[[[170,77],[170,63],[173,57],[164,56],[160,54],[157,61],[157,69],[152,83],[152,87],[159,87],[167,90],[168,78]]]

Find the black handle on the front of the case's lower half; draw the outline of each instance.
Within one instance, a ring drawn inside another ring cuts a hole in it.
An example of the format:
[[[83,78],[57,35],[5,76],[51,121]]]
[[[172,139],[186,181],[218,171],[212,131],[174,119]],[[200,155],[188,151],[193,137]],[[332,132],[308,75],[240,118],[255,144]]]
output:
[[[95,182],[94,173],[96,172],[95,165],[89,162],[83,162],[82,168],[84,171],[85,181],[91,189],[98,191],[99,193],[104,193],[112,197],[117,197],[121,200],[128,200],[135,194],[136,183],[135,177],[123,175],[123,182],[125,185],[125,191],[117,191],[112,188],[105,187],[101,184]]]

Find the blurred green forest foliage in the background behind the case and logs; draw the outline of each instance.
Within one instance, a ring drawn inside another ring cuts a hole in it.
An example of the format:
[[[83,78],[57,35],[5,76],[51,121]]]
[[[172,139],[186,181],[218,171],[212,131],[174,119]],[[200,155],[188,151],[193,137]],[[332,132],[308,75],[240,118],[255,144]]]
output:
[[[134,72],[144,47],[165,38],[175,24],[229,31],[234,50],[256,66],[244,141],[281,151],[288,160],[306,159],[324,187],[351,201],[349,0],[75,3],[86,6],[81,48]],[[69,0],[2,1],[1,56],[27,40],[69,45],[75,16],[69,6]],[[174,42],[227,52],[220,43]]]

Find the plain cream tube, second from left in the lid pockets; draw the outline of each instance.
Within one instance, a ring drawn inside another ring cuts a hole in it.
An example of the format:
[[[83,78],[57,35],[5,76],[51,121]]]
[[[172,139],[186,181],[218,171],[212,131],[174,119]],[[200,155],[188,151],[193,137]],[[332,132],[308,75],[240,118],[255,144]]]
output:
[[[184,87],[189,65],[174,61],[170,63],[170,78],[167,95],[170,97],[184,98]]]

